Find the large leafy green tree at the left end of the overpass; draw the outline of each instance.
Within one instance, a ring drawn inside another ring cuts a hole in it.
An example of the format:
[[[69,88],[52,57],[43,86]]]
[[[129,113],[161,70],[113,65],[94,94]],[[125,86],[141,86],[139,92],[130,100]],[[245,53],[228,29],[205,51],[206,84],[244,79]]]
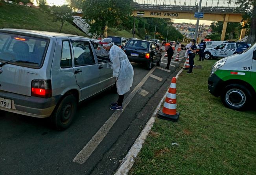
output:
[[[83,16],[90,24],[89,32],[92,35],[103,34],[105,26],[108,27],[132,27],[131,23],[131,2],[133,0],[85,0],[82,2]]]

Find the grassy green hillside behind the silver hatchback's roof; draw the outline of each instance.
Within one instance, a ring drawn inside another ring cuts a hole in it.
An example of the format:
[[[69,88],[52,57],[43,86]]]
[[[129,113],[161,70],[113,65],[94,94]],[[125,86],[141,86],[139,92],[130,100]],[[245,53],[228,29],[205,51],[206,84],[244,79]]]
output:
[[[60,27],[61,22],[53,22],[53,16],[48,12],[23,5],[0,2],[0,28],[59,32]],[[84,32],[68,22],[64,23],[61,32],[87,36]]]

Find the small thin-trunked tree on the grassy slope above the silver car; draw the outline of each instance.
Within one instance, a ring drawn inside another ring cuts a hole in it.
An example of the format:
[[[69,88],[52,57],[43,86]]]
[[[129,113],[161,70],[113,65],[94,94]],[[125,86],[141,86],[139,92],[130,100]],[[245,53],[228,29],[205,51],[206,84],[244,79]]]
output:
[[[68,5],[61,5],[61,6],[52,6],[53,11],[53,21],[61,22],[61,29],[65,21],[72,21],[74,18],[72,16],[72,9],[68,7]],[[59,32],[61,32],[61,29]]]

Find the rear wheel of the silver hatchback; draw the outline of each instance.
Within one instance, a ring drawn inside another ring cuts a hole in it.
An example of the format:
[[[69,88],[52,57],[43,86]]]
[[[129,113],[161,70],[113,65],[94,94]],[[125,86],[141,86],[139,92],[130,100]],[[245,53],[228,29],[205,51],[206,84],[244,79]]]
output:
[[[52,125],[56,130],[65,130],[70,126],[76,114],[77,99],[72,94],[65,96],[51,115]]]

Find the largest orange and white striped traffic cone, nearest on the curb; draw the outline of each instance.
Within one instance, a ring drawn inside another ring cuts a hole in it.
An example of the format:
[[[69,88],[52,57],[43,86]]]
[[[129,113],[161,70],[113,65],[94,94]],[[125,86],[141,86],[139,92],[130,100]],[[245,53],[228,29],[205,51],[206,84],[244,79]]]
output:
[[[176,112],[176,78],[173,77],[165,98],[162,112],[158,112],[158,118],[177,122],[179,112]]]

